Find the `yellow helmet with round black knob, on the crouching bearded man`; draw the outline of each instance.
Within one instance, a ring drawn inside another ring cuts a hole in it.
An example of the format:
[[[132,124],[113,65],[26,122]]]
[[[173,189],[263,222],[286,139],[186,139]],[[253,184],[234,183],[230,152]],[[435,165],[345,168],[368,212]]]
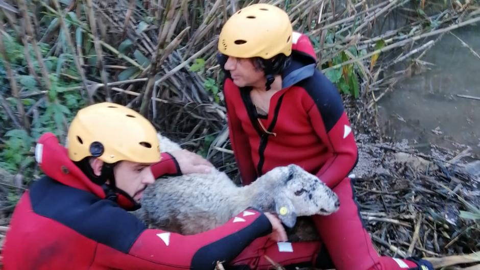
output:
[[[150,121],[114,103],[81,109],[70,124],[67,138],[68,156],[73,161],[90,156],[106,163],[160,161],[157,132]]]

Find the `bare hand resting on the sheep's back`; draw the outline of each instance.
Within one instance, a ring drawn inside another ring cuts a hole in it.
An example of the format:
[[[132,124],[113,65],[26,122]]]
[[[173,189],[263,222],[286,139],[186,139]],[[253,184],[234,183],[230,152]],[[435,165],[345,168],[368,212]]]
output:
[[[187,150],[178,150],[169,153],[177,160],[180,171],[184,175],[193,173],[207,174],[210,173],[213,167],[213,165],[202,156]]]

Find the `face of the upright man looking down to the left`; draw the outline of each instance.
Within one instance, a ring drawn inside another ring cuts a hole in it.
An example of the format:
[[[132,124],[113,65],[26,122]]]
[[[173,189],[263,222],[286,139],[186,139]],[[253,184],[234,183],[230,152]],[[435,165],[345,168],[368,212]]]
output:
[[[224,68],[230,71],[233,83],[238,87],[265,85],[265,73],[255,68],[249,58],[228,57]]]

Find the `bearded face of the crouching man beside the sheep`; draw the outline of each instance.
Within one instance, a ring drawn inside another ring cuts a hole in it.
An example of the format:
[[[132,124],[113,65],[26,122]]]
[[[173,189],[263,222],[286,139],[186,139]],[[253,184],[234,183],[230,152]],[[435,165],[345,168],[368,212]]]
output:
[[[127,192],[137,203],[140,202],[143,190],[153,184],[151,164],[122,161],[113,168],[117,188]]]

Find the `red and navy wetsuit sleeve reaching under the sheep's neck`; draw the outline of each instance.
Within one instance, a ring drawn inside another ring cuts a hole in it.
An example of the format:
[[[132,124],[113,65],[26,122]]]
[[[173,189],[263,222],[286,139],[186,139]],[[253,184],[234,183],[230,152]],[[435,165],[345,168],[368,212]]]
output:
[[[196,235],[147,229],[128,254],[100,244],[95,257],[118,269],[213,269],[217,261],[233,260],[255,238],[271,230],[263,213],[247,209],[225,225]]]

